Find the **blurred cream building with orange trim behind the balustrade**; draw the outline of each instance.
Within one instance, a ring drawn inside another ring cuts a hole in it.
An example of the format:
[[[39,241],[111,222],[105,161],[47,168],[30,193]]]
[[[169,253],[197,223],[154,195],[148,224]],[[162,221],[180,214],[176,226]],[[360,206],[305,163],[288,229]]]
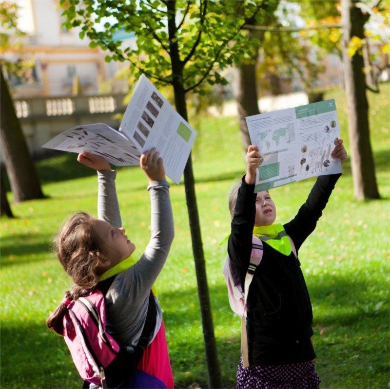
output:
[[[30,58],[35,66],[29,82],[11,77],[14,98],[28,96],[65,96],[96,94],[110,81],[110,92],[128,90],[126,82],[114,78],[123,67],[121,62],[106,62],[100,48],[90,48],[88,39],[80,39],[79,28],[62,27],[58,0],[17,0],[20,6],[18,24],[27,33],[18,52],[4,56],[12,62]]]

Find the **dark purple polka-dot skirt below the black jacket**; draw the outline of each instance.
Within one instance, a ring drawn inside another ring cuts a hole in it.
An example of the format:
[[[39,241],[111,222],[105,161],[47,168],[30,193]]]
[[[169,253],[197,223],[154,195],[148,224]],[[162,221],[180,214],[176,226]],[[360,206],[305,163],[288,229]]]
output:
[[[237,389],[306,389],[319,388],[312,362],[291,365],[254,366],[246,369],[242,358],[237,369]]]

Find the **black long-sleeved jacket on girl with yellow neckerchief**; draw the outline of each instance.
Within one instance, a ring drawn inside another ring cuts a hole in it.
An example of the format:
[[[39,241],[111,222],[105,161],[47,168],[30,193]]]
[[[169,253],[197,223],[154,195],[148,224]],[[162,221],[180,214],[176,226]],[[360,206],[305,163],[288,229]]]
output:
[[[319,176],[308,199],[284,228],[296,251],[314,230],[341,174]],[[244,285],[252,250],[255,217],[254,185],[242,180],[238,190],[228,254]],[[264,243],[263,258],[247,297],[249,360],[254,365],[280,365],[315,358],[310,337],[312,304],[299,259]]]

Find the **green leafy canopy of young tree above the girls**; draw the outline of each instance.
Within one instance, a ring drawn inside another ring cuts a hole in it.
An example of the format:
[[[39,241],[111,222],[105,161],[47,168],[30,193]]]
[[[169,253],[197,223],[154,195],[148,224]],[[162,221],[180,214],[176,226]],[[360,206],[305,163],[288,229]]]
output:
[[[61,5],[65,26],[79,27],[81,38],[108,51],[107,61],[130,61],[136,78],[142,72],[162,84],[173,84],[181,74],[187,93],[203,81],[226,84],[220,71],[252,51],[245,25],[261,19],[273,2],[61,0]],[[136,47],[115,40],[119,30],[135,33]]]

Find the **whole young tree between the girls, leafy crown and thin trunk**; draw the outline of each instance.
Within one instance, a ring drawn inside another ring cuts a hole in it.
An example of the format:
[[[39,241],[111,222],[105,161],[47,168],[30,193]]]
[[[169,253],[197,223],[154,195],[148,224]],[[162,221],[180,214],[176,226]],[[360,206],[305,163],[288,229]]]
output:
[[[80,36],[91,39],[91,46],[109,51],[106,60],[129,61],[136,78],[144,73],[156,86],[171,85],[176,111],[188,120],[187,93],[202,93],[204,82],[227,83],[219,72],[251,53],[254,42],[247,37],[244,26],[254,19],[261,22],[269,1],[62,0],[60,3],[65,26],[81,28]],[[99,30],[101,23],[103,29]],[[120,29],[135,33],[136,49],[113,39]],[[209,385],[221,388],[191,155],[184,169],[184,186]]]

